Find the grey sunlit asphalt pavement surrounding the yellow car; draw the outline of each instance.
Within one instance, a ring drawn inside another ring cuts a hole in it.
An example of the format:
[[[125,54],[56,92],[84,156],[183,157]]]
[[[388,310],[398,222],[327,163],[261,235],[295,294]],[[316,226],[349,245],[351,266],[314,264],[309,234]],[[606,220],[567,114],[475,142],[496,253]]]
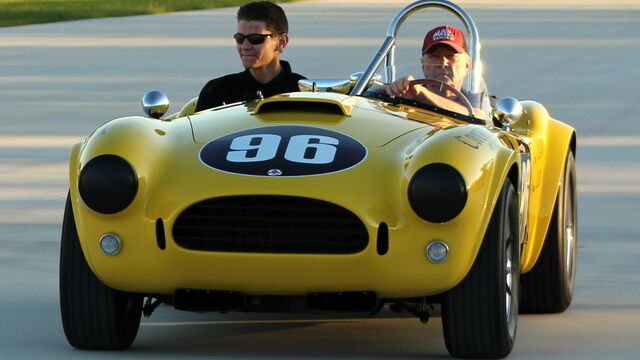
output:
[[[307,77],[364,70],[408,1],[284,4],[284,59]],[[578,275],[559,315],[520,317],[510,359],[636,359],[640,354],[640,3],[463,1],[498,96],[534,99],[578,131]],[[163,90],[176,111],[204,83],[240,68],[235,8],[0,28],[0,359],[443,358],[427,325],[375,318],[192,314],[161,307],[133,347],[72,349],[58,303],[60,224],[71,145],[141,114]],[[444,15],[425,15],[435,25]],[[399,73],[417,68],[426,30],[407,22]]]

